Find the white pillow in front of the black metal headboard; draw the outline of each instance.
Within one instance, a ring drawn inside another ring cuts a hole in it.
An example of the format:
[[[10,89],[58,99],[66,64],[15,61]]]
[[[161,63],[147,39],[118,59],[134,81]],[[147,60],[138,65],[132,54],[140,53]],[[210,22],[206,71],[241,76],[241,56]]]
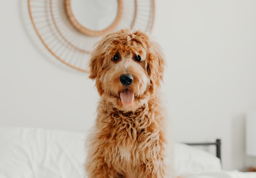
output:
[[[207,151],[182,143],[174,145],[174,168],[177,175],[221,171],[221,161]]]

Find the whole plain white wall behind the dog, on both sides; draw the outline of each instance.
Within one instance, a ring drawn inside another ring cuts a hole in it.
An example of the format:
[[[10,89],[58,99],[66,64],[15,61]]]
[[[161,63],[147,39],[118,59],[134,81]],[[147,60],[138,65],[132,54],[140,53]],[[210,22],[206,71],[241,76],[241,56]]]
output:
[[[0,1],[0,125],[85,132],[98,94],[88,75],[41,44],[26,0]],[[245,112],[256,110],[256,1],[159,0],[153,36],[167,58],[162,87],[174,138],[222,139],[224,169],[245,170]]]

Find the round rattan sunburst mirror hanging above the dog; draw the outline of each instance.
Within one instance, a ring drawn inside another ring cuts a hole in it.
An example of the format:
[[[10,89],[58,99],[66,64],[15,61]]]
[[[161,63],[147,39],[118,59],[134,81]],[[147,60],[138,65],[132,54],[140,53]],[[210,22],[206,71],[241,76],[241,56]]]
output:
[[[106,5],[112,7],[106,2],[114,3],[116,11],[108,9],[112,17],[114,13],[114,19],[112,18],[104,27],[93,29],[79,21],[76,11],[87,12],[82,18],[86,17],[84,19],[88,19],[88,24],[89,22],[96,24],[96,15],[99,25],[106,22],[104,13],[97,11],[93,15],[95,8],[101,7],[99,11],[103,12]],[[74,3],[81,3],[80,10],[73,8]],[[86,8],[83,8],[85,6]],[[129,27],[131,30],[151,32],[155,16],[155,1],[28,0],[28,9],[35,32],[49,52],[64,64],[82,72],[89,72],[90,51],[103,35]]]

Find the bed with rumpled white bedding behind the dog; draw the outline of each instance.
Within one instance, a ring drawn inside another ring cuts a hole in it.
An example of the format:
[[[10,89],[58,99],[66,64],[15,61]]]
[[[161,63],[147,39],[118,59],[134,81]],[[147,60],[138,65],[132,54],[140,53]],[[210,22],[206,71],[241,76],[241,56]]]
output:
[[[0,128],[0,178],[84,178],[84,133],[42,128]],[[174,144],[174,167],[182,178],[256,178],[223,171],[207,151]]]

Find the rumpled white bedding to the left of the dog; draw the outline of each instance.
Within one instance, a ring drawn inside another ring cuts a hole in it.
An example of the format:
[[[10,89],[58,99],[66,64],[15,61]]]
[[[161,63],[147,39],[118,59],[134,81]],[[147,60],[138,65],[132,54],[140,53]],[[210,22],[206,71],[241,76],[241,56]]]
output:
[[[83,178],[84,134],[0,128],[0,178]]]

